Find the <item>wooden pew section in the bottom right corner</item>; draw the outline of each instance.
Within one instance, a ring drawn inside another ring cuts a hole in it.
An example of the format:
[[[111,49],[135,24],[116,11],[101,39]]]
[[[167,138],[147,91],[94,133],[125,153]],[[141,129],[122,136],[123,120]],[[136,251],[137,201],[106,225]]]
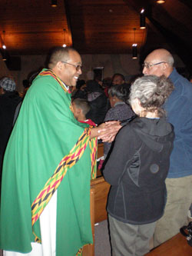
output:
[[[176,234],[173,238],[165,241],[157,248],[152,249],[145,256],[191,256],[192,247],[187,244],[182,234]]]

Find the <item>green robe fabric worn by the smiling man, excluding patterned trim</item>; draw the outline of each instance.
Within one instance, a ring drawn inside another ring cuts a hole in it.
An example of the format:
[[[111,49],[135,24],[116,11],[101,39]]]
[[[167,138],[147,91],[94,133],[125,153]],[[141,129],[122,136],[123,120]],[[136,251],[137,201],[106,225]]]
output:
[[[0,248],[6,251],[27,253],[35,235],[41,241],[39,219],[31,224],[31,205],[61,160],[88,130],[87,124],[74,118],[71,95],[54,76],[51,71],[43,70],[33,81],[5,151]],[[84,138],[89,139],[88,136]],[[57,188],[57,256],[75,255],[84,244],[93,242],[89,144],[84,146],[81,157],[73,164],[69,161],[68,165],[70,168]]]

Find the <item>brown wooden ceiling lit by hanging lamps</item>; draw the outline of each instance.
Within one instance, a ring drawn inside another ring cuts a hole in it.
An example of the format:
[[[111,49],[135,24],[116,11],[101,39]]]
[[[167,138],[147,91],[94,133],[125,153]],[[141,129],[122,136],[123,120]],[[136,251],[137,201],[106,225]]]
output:
[[[71,45],[81,54],[127,54],[137,43],[141,55],[154,48],[177,53],[191,68],[192,1],[167,0],[1,0],[0,47],[10,55],[47,54]],[[140,29],[145,9],[146,29]],[[5,33],[3,33],[5,32]]]

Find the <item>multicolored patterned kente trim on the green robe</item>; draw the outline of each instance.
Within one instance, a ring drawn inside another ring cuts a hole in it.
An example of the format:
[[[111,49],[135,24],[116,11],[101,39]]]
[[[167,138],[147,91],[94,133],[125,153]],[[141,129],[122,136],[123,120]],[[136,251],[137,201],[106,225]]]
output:
[[[57,78],[55,74],[50,70],[44,71],[42,73],[44,73],[44,75],[45,74],[51,75],[54,78]],[[57,81],[60,81],[60,80],[58,80],[57,78]],[[65,87],[62,86],[62,88],[64,88],[64,90],[67,91]],[[35,241],[38,243],[41,243],[41,239],[38,238],[38,236],[35,234],[35,231],[33,228],[34,224],[36,221],[38,221],[38,218],[40,217],[41,212],[45,209],[45,206],[50,201],[51,196],[54,194],[58,186],[61,184],[61,181],[65,177],[68,169],[71,168],[73,165],[75,165],[77,161],[81,158],[88,143],[91,148],[91,178],[96,178],[97,139],[92,138],[90,140],[90,135],[91,135],[91,128],[84,128],[84,132],[82,133],[80,138],[78,138],[78,141],[76,142],[74,147],[71,149],[68,155],[65,155],[65,157],[61,159],[58,167],[55,169],[54,174],[51,176],[51,178],[48,179],[48,181],[45,183],[44,188],[42,188],[38,196],[35,198],[35,201],[33,201],[33,203],[31,204],[32,231],[33,231],[33,234],[35,235]]]

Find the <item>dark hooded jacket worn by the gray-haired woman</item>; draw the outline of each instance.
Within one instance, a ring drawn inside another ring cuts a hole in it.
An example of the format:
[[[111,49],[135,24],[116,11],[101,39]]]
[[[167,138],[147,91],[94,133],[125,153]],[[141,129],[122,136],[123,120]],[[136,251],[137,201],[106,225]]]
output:
[[[173,126],[163,118],[135,118],[121,128],[104,168],[112,217],[130,224],[161,218],[173,141]]]

